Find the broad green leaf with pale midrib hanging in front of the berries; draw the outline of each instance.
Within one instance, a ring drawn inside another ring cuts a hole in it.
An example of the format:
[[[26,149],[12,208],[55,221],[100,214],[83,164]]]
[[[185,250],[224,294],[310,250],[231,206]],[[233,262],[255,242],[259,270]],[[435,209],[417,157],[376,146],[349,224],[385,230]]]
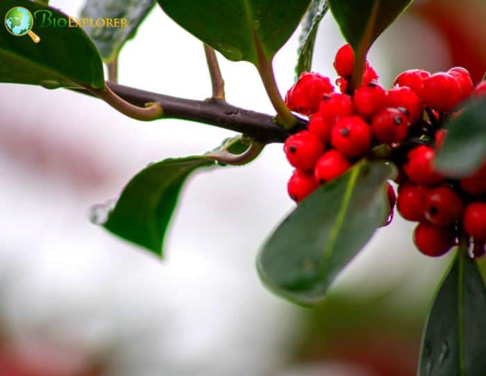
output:
[[[287,299],[316,304],[389,213],[395,168],[360,161],[290,213],[258,254],[262,281]]]

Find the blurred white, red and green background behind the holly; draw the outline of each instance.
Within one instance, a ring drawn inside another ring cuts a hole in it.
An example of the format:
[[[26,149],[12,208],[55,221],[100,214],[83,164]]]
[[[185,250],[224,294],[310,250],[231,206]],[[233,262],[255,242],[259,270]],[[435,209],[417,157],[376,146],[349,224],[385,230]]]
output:
[[[78,15],[82,0],[51,0]],[[369,60],[389,86],[399,72],[462,65],[486,70],[486,3],[422,0],[376,42]],[[328,14],[313,70],[335,79],[344,41]],[[156,48],[154,48],[156,47]],[[297,34],[275,60],[280,90],[294,79]],[[76,58],[73,56],[73,58]],[[273,113],[253,66],[220,56],[228,101]],[[203,99],[201,42],[160,8],[121,52],[119,81]],[[200,154],[231,132],[130,120],[69,92],[0,85],[1,376],[412,376],[426,312],[450,256],[412,245],[396,215],[346,268],[317,309],[275,297],[254,260],[292,210],[282,145],[257,161],[196,174],[185,186],[165,259],[90,223],[153,161]]]

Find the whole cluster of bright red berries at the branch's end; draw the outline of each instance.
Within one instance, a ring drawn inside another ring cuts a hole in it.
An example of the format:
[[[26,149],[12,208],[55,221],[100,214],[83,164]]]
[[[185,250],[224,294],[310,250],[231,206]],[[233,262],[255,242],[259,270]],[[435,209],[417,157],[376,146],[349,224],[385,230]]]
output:
[[[422,140],[426,135],[428,145],[412,144],[403,163],[398,163],[398,199],[394,188],[388,187],[390,218],[397,202],[403,218],[419,222],[414,242],[429,256],[445,254],[464,231],[471,237],[473,256],[485,254],[486,165],[473,177],[454,181],[435,171],[433,160],[446,136],[444,122],[458,114],[464,100],[486,95],[486,81],[474,88],[462,67],[435,74],[408,70],[385,90],[366,63],[362,84],[351,93],[347,90],[354,58],[348,44],[337,51],[334,67],[341,93],[334,92],[327,77],[305,72],[285,97],[292,111],[309,117],[307,129],[285,141],[285,154],[295,167],[287,185],[290,197],[299,202],[376,145],[399,150],[406,139]]]

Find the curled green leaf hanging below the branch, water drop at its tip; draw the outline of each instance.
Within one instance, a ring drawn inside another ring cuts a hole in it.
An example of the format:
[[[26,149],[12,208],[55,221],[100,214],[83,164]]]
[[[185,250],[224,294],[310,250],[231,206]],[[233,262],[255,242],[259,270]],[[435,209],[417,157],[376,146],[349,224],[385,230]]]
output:
[[[212,165],[215,162],[203,156],[169,158],[149,165],[126,185],[103,227],[162,256],[165,232],[184,181],[194,170]]]

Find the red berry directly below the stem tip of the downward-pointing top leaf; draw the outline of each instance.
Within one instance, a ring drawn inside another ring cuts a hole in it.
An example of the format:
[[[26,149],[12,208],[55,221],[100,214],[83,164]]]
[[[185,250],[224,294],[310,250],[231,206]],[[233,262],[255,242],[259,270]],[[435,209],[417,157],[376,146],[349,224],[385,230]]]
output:
[[[355,90],[353,103],[356,112],[369,119],[386,106],[387,92],[376,81],[370,81]]]

